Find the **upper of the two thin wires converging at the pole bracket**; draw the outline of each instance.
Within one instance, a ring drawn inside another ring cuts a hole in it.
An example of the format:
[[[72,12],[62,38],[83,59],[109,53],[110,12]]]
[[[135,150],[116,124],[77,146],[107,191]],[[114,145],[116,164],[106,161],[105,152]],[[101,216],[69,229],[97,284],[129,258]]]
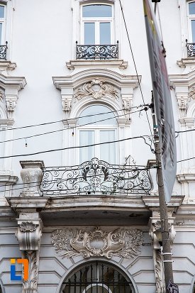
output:
[[[79,116],[79,117],[74,117],[74,119],[91,117],[91,116],[96,116],[96,115],[104,115],[104,114],[109,114],[109,113],[117,113],[118,111],[131,110],[131,109],[140,108],[140,107],[143,107],[143,106],[149,106],[149,104],[144,104],[144,105],[139,105],[139,106],[132,106],[132,107],[129,107],[129,108],[113,110],[113,111],[111,110],[111,111],[108,111],[108,112],[105,112],[105,113],[97,113],[97,114],[90,114],[90,115],[86,115],[86,116]],[[62,120],[58,120],[58,121],[50,121],[50,122],[32,124],[32,125],[28,125],[28,126],[21,126],[21,127],[15,127],[15,128],[0,129],[0,132],[1,131],[13,131],[13,130],[16,130],[16,129],[29,128],[29,127],[35,127],[35,126],[44,126],[44,125],[48,125],[48,124],[60,123],[60,122],[65,122],[65,121],[69,121],[69,120],[72,120],[72,118],[66,118],[66,119],[62,119]]]

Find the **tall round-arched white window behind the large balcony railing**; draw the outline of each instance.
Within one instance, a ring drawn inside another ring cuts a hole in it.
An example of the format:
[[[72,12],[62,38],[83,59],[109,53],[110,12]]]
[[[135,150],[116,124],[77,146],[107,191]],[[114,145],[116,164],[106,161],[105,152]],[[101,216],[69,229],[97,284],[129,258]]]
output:
[[[115,115],[106,106],[88,106],[79,116],[77,123],[79,145],[93,145],[117,139],[117,121]],[[97,157],[111,164],[116,163],[117,145],[107,143],[79,149],[79,162]]]

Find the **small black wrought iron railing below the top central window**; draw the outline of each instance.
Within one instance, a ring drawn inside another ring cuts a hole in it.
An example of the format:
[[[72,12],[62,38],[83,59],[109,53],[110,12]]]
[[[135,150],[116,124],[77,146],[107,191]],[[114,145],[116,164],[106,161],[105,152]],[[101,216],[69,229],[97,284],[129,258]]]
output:
[[[118,41],[116,45],[77,45],[76,47],[76,59],[118,59]]]

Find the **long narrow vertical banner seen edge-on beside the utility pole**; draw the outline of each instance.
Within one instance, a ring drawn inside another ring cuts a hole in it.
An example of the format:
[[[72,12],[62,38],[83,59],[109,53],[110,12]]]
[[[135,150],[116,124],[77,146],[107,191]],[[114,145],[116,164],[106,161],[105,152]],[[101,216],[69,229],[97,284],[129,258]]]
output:
[[[150,58],[152,89],[157,116],[157,127],[161,147],[162,175],[165,187],[166,202],[169,202],[176,176],[176,142],[174,118],[169,87],[167,66],[163,55],[162,42],[158,33],[155,14],[150,0],[143,0],[147,46]]]

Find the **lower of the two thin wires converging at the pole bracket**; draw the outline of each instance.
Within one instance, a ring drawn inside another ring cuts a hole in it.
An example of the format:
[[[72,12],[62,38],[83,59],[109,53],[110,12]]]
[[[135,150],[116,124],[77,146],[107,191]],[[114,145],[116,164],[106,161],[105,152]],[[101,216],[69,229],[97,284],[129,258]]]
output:
[[[138,113],[140,111],[146,111],[145,109],[146,109],[146,107],[144,109],[140,109],[138,111],[131,112],[131,114]],[[123,114],[122,115],[118,115],[117,117],[121,117],[121,116],[124,116],[124,115]],[[81,126],[87,126],[87,125],[90,125],[90,124],[94,124],[94,123],[102,122],[102,121],[107,121],[107,120],[110,120],[110,119],[113,119],[113,117],[105,118],[105,119],[101,119],[101,120],[97,120],[97,121],[93,121],[93,122],[89,122],[89,123],[85,123],[85,124],[77,125],[77,126],[73,126],[73,127],[71,126],[71,127],[67,127],[67,128],[63,128],[63,129],[58,129],[57,131],[48,131],[48,132],[45,132],[45,133],[38,133],[38,134],[34,134],[33,136],[24,136],[22,138],[12,138],[12,139],[9,139],[9,140],[1,140],[0,143],[9,143],[10,141],[15,141],[15,140],[22,140],[22,139],[27,139],[27,138],[34,138],[36,136],[45,136],[47,134],[57,133],[57,132],[65,131],[65,130],[69,130],[69,129],[74,130],[75,128],[78,128],[78,127],[81,127]]]

